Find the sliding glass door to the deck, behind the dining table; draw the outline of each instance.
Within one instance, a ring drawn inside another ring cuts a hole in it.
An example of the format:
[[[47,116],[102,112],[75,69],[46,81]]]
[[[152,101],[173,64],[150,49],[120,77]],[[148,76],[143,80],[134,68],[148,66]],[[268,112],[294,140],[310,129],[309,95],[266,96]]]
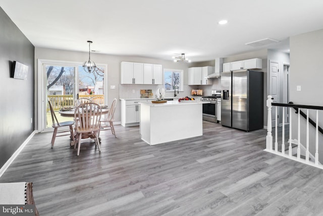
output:
[[[61,109],[74,108],[78,98],[103,98],[106,105],[107,65],[98,65],[97,70],[88,73],[83,70],[82,63],[52,60],[38,60],[38,131],[52,129],[52,119],[48,101],[51,103],[56,117],[61,121],[73,120],[63,117]],[[104,81],[105,80],[105,81]]]

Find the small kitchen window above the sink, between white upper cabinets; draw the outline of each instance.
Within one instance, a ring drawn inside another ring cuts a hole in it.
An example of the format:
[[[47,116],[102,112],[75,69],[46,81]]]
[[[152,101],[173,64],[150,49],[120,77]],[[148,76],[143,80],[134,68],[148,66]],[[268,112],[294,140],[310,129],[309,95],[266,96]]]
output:
[[[175,86],[183,91],[183,70],[164,69],[164,88],[166,92],[174,91]]]

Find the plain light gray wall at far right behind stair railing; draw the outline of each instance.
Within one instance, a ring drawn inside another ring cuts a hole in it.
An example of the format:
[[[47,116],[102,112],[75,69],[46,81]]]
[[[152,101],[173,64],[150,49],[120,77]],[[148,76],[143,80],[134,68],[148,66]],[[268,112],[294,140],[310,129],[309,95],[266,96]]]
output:
[[[290,101],[295,104],[323,106],[323,29],[290,37]],[[301,85],[301,91],[296,86]],[[306,110],[304,110],[306,112]],[[315,112],[310,112],[315,120]],[[300,142],[306,146],[305,119],[301,117]],[[323,112],[319,112],[319,126],[323,127]],[[292,112],[292,137],[297,139],[297,115]],[[315,152],[314,127],[309,125],[310,152]],[[323,162],[323,136],[319,134],[319,161]]]

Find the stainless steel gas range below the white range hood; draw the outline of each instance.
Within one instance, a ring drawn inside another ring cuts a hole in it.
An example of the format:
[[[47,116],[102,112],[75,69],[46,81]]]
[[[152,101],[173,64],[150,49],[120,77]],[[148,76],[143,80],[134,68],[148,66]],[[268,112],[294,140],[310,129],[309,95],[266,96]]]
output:
[[[202,96],[201,101],[208,101],[209,104],[203,104],[202,119],[206,121],[218,122],[218,101],[221,100],[221,90],[212,90],[211,96]]]

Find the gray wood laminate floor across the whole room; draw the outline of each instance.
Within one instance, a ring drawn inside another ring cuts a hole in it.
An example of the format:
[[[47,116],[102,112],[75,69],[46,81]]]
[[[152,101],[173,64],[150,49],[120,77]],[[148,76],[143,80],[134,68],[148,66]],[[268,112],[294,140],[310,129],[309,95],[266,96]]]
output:
[[[33,182],[40,215],[323,215],[323,171],[264,152],[264,129],[203,121],[203,136],[154,146],[138,126],[116,134],[80,156],[36,134],[0,182]]]

